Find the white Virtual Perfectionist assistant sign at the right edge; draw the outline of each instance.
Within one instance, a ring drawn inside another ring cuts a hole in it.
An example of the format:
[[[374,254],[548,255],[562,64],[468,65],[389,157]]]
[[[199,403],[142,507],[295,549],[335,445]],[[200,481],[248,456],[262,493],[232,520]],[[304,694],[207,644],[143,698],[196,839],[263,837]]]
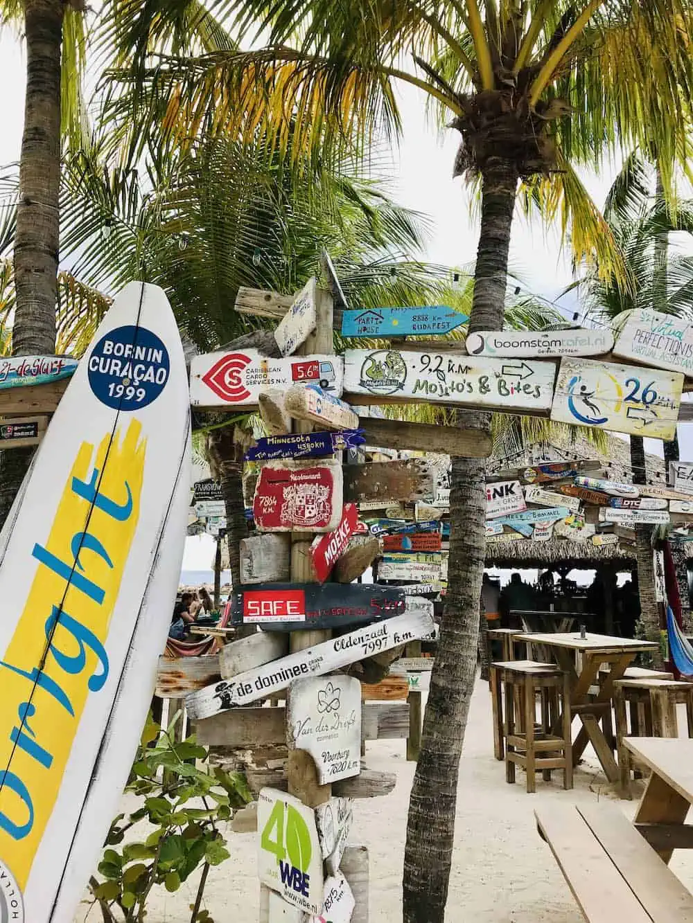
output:
[[[639,308],[619,314],[614,329],[614,355],[693,374],[693,327],[686,320]]]

